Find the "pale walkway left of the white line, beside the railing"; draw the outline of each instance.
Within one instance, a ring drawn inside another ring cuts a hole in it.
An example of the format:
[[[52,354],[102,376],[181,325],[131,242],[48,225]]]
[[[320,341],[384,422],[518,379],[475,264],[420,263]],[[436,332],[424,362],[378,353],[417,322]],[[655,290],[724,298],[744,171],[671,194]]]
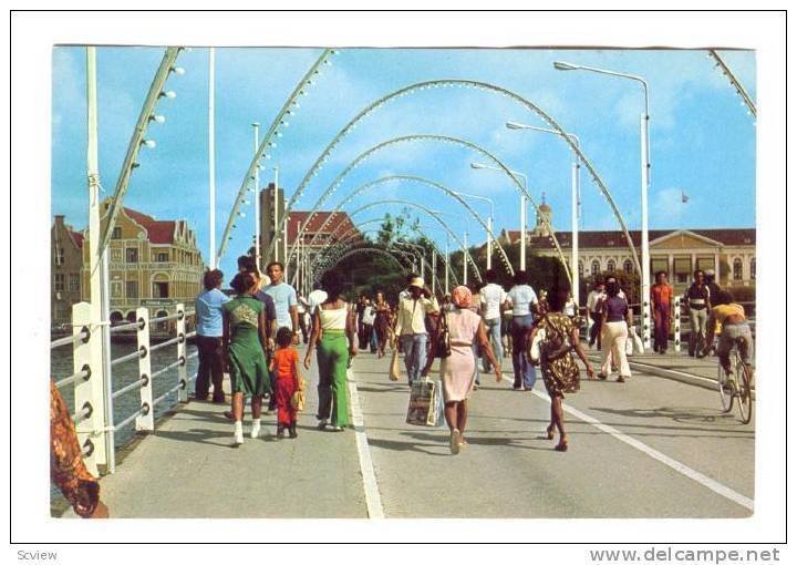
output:
[[[276,438],[263,415],[261,438],[232,448],[228,405],[189,402],[138,442],[101,481],[114,517],[366,517],[354,432],[315,429],[315,368],[299,438]],[[227,386],[227,383],[226,383]]]

